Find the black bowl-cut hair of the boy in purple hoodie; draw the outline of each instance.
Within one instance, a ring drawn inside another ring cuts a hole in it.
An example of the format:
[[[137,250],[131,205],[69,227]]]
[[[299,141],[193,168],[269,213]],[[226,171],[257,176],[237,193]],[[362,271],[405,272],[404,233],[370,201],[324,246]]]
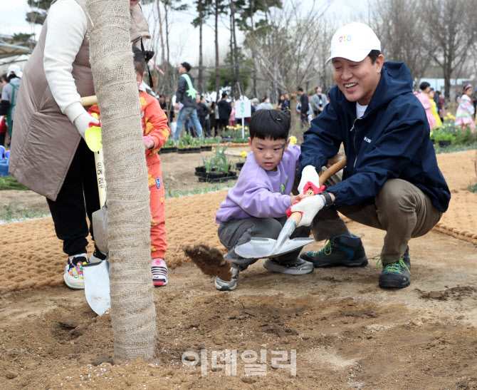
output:
[[[288,140],[290,119],[281,110],[258,110],[250,118],[250,138]]]

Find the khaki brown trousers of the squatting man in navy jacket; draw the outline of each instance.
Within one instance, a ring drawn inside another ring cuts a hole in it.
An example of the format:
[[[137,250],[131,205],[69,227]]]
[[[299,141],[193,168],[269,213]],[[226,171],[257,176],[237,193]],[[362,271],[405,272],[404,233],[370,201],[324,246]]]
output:
[[[337,173],[325,184],[331,186],[340,181],[341,173]],[[379,195],[374,197],[374,204],[340,207],[337,210],[362,225],[386,230],[381,252],[384,263],[399,260],[409,240],[425,235],[442,216],[429,197],[415,185],[401,179],[387,180]],[[318,212],[312,230],[316,241],[347,232],[337,210],[323,209]]]

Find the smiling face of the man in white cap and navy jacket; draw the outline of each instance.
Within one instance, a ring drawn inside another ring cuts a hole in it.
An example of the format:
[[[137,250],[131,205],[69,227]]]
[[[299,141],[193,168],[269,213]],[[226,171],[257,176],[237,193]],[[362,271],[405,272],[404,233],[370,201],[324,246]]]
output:
[[[381,78],[384,57],[379,54],[374,63],[369,56],[363,61],[354,62],[345,58],[333,58],[333,78],[347,101],[357,101],[367,106]]]

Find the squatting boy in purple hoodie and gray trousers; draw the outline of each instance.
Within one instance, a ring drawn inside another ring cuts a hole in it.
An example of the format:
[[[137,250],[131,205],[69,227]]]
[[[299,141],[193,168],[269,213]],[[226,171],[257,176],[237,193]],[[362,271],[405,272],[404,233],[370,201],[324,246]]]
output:
[[[286,211],[305,195],[290,196],[295,183],[295,170],[300,163],[300,148],[288,145],[290,119],[279,110],[258,110],[250,120],[248,144],[252,153],[243,165],[239,180],[227,193],[216,213],[219,239],[229,250],[226,259],[232,262],[232,280],[216,277],[215,288],[231,291],[237,288],[239,272],[258,259],[246,259],[235,247],[252,237],[276,239],[286,222]],[[310,226],[295,229],[291,238],[309,237]],[[266,259],[263,267],[283,274],[308,274],[313,264],[300,259],[300,249]]]

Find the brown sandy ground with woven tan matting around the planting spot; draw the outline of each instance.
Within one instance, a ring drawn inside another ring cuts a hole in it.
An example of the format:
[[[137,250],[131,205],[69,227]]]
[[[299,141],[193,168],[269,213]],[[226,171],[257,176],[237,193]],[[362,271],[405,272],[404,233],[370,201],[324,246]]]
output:
[[[236,291],[218,292],[181,248],[222,249],[214,212],[226,191],[168,200],[172,269],[169,285],[154,290],[154,362],[115,365],[110,316],[96,316],[84,292],[63,285],[65,255],[50,218],[0,225],[0,389],[477,389],[477,195],[464,190],[477,180],[474,155],[438,156],[451,207],[410,242],[412,284],[397,291],[377,287],[372,257],[384,232],[350,222],[364,235],[368,267],[293,277],[259,261]],[[226,349],[236,367],[214,362]],[[187,365],[188,351],[204,356]],[[245,361],[251,351],[258,359]],[[296,351],[296,376],[277,366],[278,351],[288,360]],[[261,363],[263,376],[246,371]]]

